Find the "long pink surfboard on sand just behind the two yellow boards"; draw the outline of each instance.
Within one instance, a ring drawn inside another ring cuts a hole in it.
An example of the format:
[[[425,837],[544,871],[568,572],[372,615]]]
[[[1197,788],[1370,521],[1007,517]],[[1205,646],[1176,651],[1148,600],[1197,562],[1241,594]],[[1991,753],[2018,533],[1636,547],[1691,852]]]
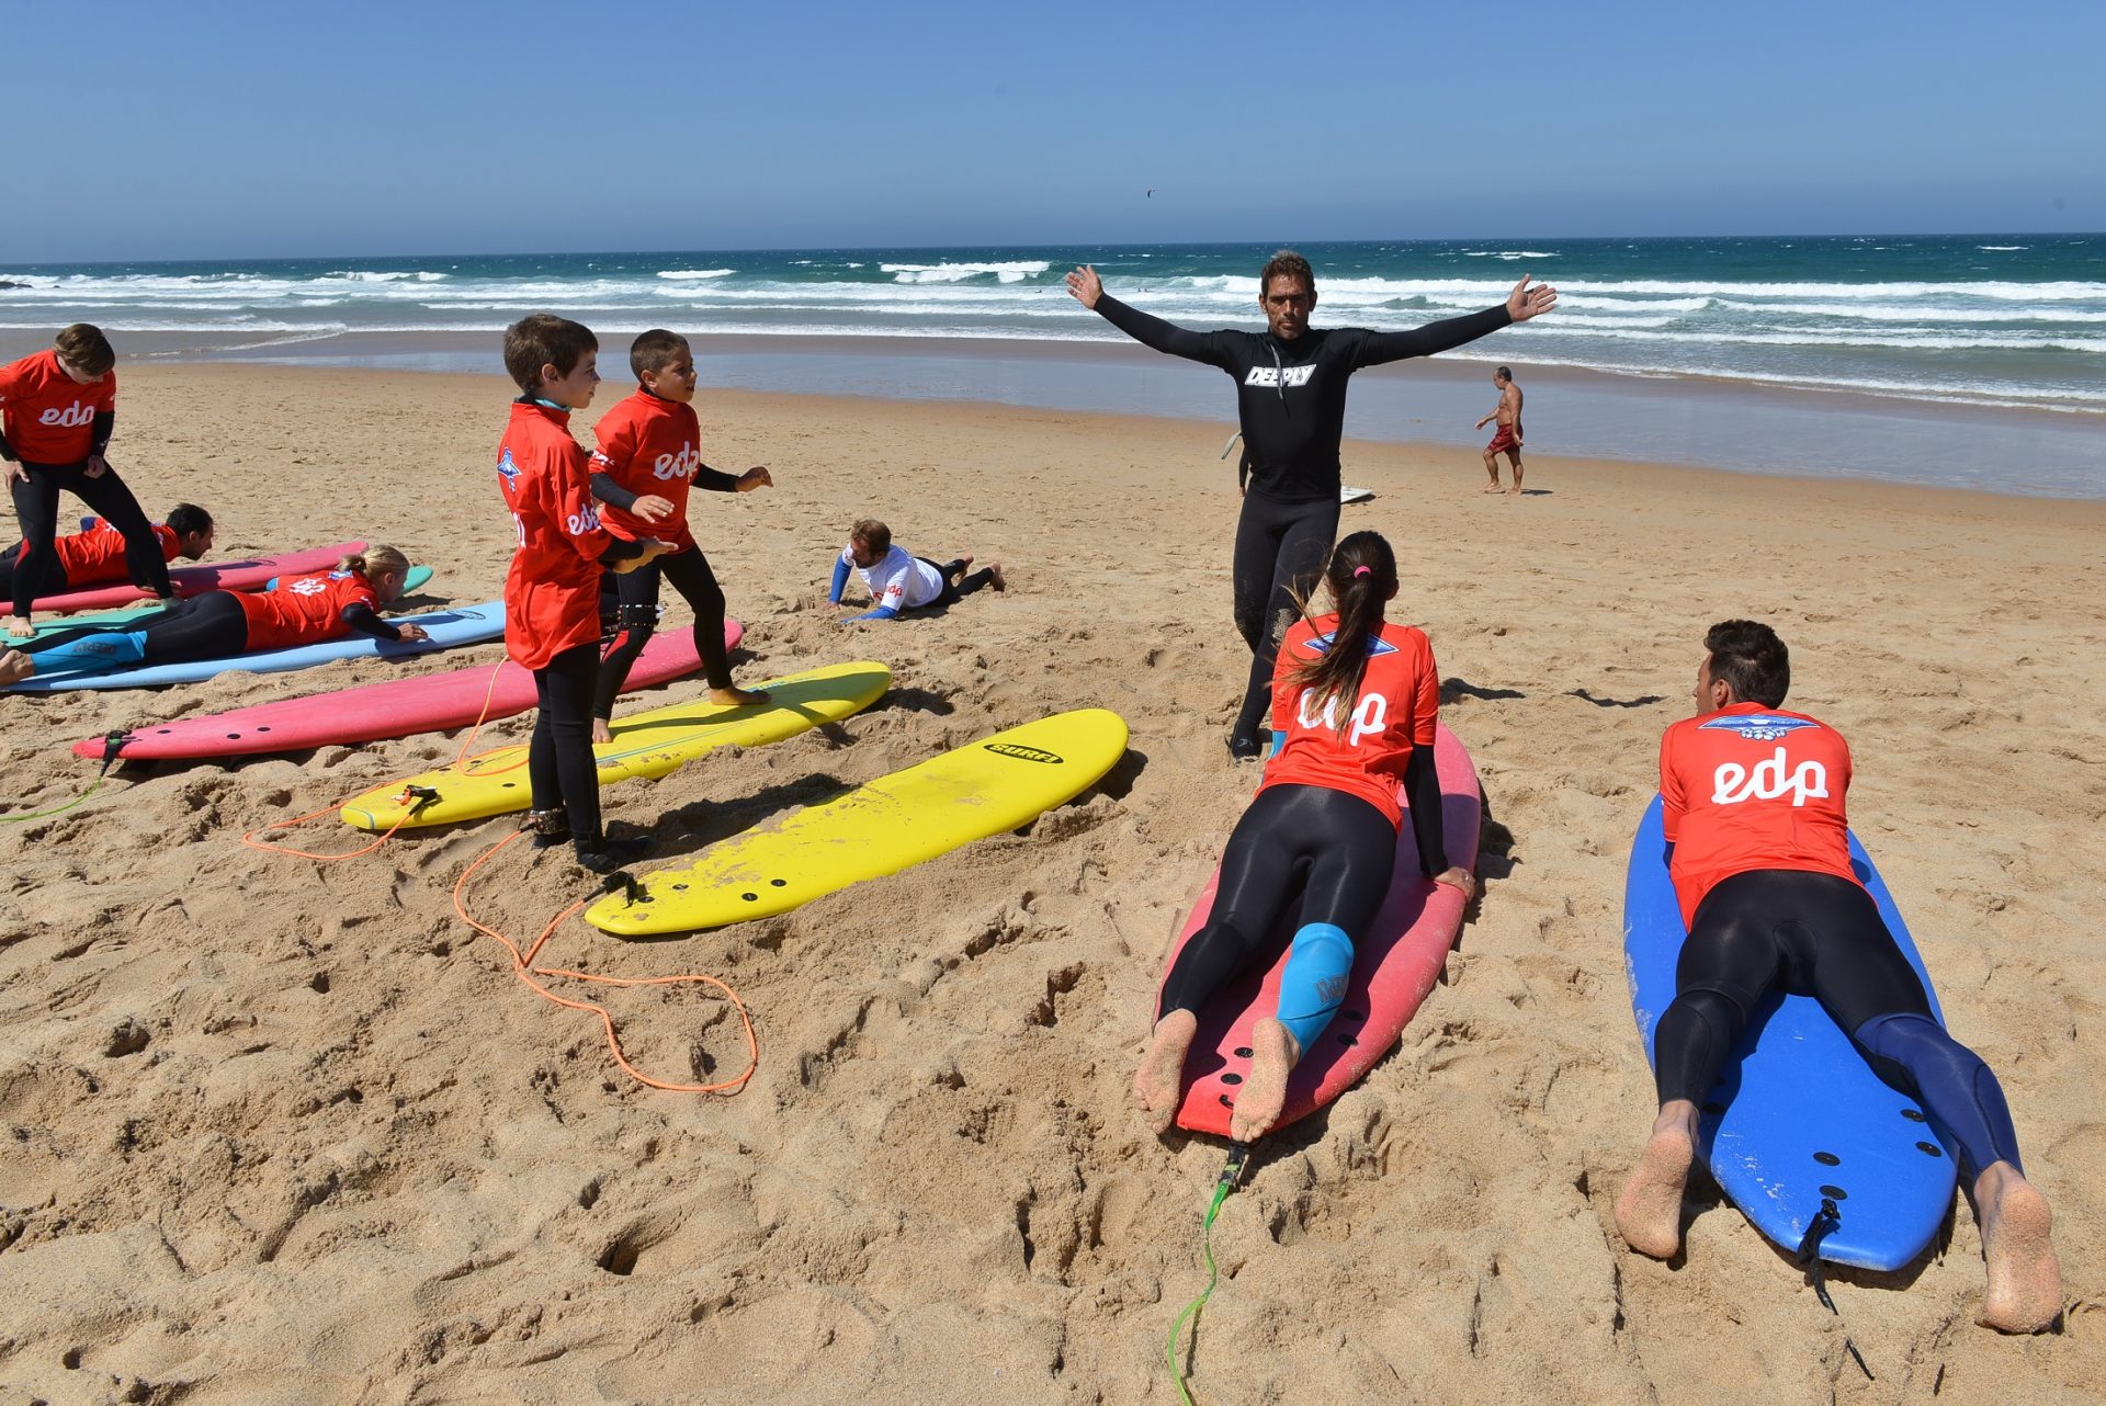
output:
[[[737,648],[746,627],[724,621],[724,648]],[[623,692],[682,678],[701,667],[693,629],[663,629],[651,636],[630,667]],[[497,686],[491,688],[491,674]],[[482,701],[489,697],[489,711]],[[118,758],[152,762],[168,758],[221,758],[259,751],[305,751],[307,747],[373,743],[385,737],[465,728],[476,718],[495,720],[524,714],[535,705],[533,674],[510,659],[446,674],[392,678],[303,699],[278,699],[236,707],[204,718],[177,718],[135,728],[118,743]],[[103,760],[103,739],[74,743],[74,756]]]

